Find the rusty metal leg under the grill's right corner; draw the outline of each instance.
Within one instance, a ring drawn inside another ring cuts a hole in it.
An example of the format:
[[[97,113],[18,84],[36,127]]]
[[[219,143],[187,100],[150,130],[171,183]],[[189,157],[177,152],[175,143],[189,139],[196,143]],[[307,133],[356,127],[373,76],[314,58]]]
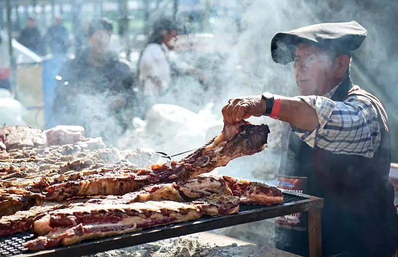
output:
[[[308,211],[309,257],[322,257],[320,209]]]

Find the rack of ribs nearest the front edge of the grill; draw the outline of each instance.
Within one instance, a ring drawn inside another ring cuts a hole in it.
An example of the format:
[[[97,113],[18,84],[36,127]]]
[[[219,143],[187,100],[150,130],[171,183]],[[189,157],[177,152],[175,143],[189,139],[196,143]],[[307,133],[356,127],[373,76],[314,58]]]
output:
[[[119,205],[77,205],[50,212],[35,221],[39,235],[24,244],[38,251],[83,240],[120,235],[143,228],[198,219],[202,211],[193,205],[172,201]]]

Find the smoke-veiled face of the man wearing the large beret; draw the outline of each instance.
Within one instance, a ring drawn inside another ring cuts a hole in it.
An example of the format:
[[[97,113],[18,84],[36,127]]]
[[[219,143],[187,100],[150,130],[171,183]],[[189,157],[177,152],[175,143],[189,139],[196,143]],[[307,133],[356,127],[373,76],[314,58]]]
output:
[[[295,77],[301,95],[324,95],[335,84],[334,60],[324,50],[299,44],[295,51]]]

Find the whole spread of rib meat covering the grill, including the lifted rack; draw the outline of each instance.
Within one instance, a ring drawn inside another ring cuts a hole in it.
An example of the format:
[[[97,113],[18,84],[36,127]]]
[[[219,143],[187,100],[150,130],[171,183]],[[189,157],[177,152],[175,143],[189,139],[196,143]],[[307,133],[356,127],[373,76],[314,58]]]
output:
[[[203,215],[233,215],[239,204],[283,202],[276,187],[208,173],[263,151],[267,125],[225,124],[186,158],[144,168],[83,132],[77,126],[0,128],[0,237],[32,231],[38,237],[24,246],[40,251]]]

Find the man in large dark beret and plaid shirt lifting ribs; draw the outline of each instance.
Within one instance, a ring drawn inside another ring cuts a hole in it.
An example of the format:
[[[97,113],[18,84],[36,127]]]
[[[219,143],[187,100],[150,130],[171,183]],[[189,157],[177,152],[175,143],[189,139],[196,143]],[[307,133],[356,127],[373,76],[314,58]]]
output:
[[[290,123],[278,185],[324,198],[328,257],[392,257],[398,246],[388,118],[381,102],[350,79],[350,53],[366,35],[355,21],[276,34],[272,58],[294,62],[302,96],[265,92],[232,98],[222,108],[228,123],[262,115]],[[277,248],[308,256],[306,219],[306,213],[277,219]]]

